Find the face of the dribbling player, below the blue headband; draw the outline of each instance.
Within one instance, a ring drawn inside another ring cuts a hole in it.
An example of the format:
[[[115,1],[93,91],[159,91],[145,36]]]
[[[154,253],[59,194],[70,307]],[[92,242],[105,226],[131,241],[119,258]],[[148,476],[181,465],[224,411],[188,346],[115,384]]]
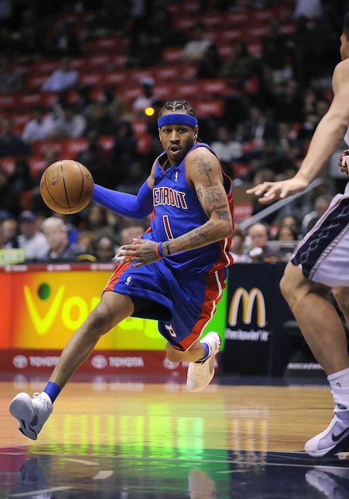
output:
[[[159,130],[159,138],[163,150],[166,151],[170,165],[178,165],[188,150],[193,147],[198,135],[198,127],[189,125],[163,125]]]

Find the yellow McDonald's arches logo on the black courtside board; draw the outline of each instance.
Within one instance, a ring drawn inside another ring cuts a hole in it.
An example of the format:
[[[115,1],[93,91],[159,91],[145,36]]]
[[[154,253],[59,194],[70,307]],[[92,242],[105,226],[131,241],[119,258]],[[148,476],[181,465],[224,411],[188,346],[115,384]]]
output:
[[[238,321],[238,309],[240,303],[243,303],[243,323],[251,324],[252,312],[254,304],[257,307],[257,325],[259,327],[265,326],[265,301],[261,289],[256,287],[251,288],[248,292],[244,287],[238,287],[231,299],[231,307],[228,314],[228,324],[229,326],[236,326]]]

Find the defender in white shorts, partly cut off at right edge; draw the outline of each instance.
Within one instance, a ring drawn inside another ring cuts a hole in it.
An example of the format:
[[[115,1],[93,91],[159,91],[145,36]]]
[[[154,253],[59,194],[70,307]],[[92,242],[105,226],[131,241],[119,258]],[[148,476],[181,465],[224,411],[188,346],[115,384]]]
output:
[[[289,180],[263,182],[248,192],[267,204],[305,190],[335,152],[343,137],[349,143],[349,13],[340,36],[340,56],[333,72],[333,102],[320,120],[298,173]],[[343,170],[348,163],[341,155]],[[310,456],[326,456],[349,447],[348,346],[335,307],[327,295],[333,289],[349,324],[349,183],[336,195],[315,226],[295,249],[280,287],[332,390],[334,416],[328,428],[305,443]]]

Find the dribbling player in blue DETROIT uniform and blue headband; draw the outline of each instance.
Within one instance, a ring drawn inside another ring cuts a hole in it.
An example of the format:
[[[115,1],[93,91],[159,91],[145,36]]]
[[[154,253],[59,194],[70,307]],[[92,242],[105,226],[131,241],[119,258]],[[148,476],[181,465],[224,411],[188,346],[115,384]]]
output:
[[[201,333],[226,287],[233,235],[231,180],[207,144],[198,142],[198,120],[185,101],[161,108],[158,130],[163,153],[138,195],[96,185],[93,200],[121,215],[151,225],[141,239],[121,246],[124,257],[109,279],[101,301],[62,351],[49,383],[31,398],[19,393],[10,413],[19,430],[36,440],[52,403],[98,339],[126,317],[157,319],[167,339],[166,356],[188,361],[189,391],[213,379],[219,335]]]

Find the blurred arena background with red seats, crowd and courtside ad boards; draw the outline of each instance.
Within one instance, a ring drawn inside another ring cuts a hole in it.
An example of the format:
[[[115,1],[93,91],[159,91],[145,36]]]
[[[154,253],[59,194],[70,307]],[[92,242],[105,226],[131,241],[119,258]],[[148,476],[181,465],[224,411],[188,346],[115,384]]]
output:
[[[221,371],[322,375],[278,282],[343,191],[337,154],[304,195],[266,210],[246,189],[299,168],[333,98],[347,9],[339,0],[0,1],[1,369],[51,371],[98,302],[119,245],[148,227],[93,202],[75,215],[51,212],[43,171],[76,159],[96,183],[138,192],[161,153],[158,109],[178,98],[233,179],[236,263],[208,326],[224,342]],[[156,324],[124,322],[128,341],[117,330],[102,339],[87,370],[186,369],[163,364]],[[108,356],[114,349],[126,354]]]

